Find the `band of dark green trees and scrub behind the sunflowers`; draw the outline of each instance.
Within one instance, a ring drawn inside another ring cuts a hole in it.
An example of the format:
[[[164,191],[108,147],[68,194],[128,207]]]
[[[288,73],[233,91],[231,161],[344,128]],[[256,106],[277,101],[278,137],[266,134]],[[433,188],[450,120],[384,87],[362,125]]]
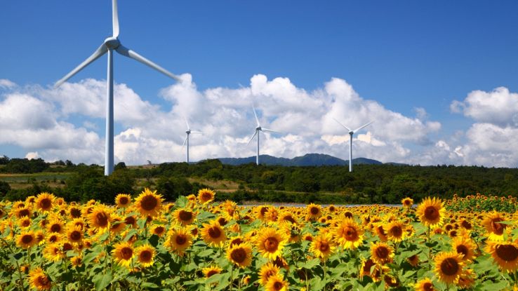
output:
[[[22,177],[22,186],[13,186]],[[39,177],[44,177],[39,179]],[[26,182],[25,182],[26,180]],[[234,186],[229,186],[234,185]],[[19,200],[47,191],[67,201],[95,199],[113,203],[119,193],[157,190],[167,201],[210,187],[218,200],[237,203],[400,203],[426,196],[451,198],[472,194],[518,196],[516,168],[454,165],[281,166],[225,165],[217,159],[199,163],[126,166],[118,163],[105,177],[99,165],[71,161],[0,158],[0,200]]]

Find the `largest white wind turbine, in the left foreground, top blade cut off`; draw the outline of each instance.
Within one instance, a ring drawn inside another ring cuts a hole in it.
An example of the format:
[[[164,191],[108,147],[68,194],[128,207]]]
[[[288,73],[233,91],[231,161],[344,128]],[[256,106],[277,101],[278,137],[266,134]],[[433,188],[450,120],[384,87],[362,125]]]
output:
[[[68,79],[72,78],[75,74],[77,74],[81,69],[90,65],[93,61],[97,60],[99,57],[108,53],[108,70],[107,70],[107,98],[106,98],[106,147],[105,147],[105,175],[110,175],[113,172],[114,168],[114,158],[113,158],[113,50],[116,50],[117,53],[124,55],[126,57],[132,58],[133,60],[137,60],[138,62],[142,62],[144,65],[148,65],[153,69],[165,74],[166,76],[175,79],[176,81],[181,81],[178,76],[171,74],[166,69],[160,67],[154,62],[147,60],[147,58],[142,57],[135,51],[126,48],[119,41],[119,15],[117,12],[117,0],[112,0],[112,27],[113,27],[113,35],[105,39],[105,41],[100,45],[100,47],[95,50],[95,52],[89,56],[84,62],[81,62],[79,66],[69,72],[62,79],[57,81],[54,85],[54,88],[58,88],[62,83],[65,83]]]

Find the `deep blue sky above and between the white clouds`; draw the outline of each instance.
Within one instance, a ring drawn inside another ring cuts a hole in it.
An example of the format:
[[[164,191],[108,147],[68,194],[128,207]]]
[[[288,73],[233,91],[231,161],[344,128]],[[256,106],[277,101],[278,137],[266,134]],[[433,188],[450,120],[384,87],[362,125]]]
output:
[[[513,95],[518,85],[515,11],[517,1],[120,1],[119,39],[175,74],[192,75],[202,95],[214,88],[248,88],[256,74],[264,74],[269,81],[287,78],[295,88],[307,93],[322,90],[333,77],[342,79],[354,88],[361,102],[373,100],[385,110],[409,119],[415,118],[416,108],[424,109],[428,121],[441,123],[439,130],[425,133],[428,139],[444,140],[452,151],[453,147],[470,146],[473,153],[477,146],[479,155],[484,156],[486,151],[485,155],[495,154],[505,161],[510,159],[506,156],[510,153],[500,152],[501,147],[477,144],[470,130],[477,124],[489,124],[512,132],[514,125],[480,119],[484,114],[472,112],[484,110],[480,108],[483,102],[468,97],[472,91],[482,90],[488,93],[482,99],[505,100],[511,107],[517,102]],[[4,43],[0,46],[0,79],[17,84],[16,88],[5,89],[0,101],[20,92],[45,100],[44,93],[34,93],[34,86],[48,90],[110,36],[111,3],[6,1],[0,4],[0,27]],[[141,100],[159,106],[164,114],[174,114],[179,101],[171,102],[171,98],[163,96],[164,90],[174,86],[171,80],[120,55],[114,62],[117,83],[126,84]],[[106,57],[102,57],[69,82],[89,78],[102,81],[105,72]],[[498,87],[510,93],[503,97],[491,94]],[[454,100],[463,102],[463,110],[452,111]],[[84,126],[84,121],[98,124],[92,131],[104,138],[104,121],[99,116],[64,115],[59,109],[62,102],[51,103],[60,111],[56,122],[76,128]],[[494,110],[488,114],[491,112]],[[250,117],[248,113],[246,116]],[[265,118],[275,124],[279,116],[265,114]],[[121,133],[142,127],[143,123],[117,124],[116,131]],[[377,130],[380,131],[373,128],[373,137]],[[461,133],[463,137],[457,140]],[[318,136],[314,133],[312,138]],[[412,153],[377,158],[427,163],[418,158],[431,150],[423,142],[380,141],[398,142]],[[218,144],[223,147],[223,141]],[[271,154],[293,155],[303,149],[327,148],[314,145]],[[358,150],[363,153],[360,144]],[[36,144],[22,145],[14,138],[0,140],[0,154],[14,157],[36,151],[45,158],[62,158],[62,154],[41,154],[46,148]],[[338,152],[333,149],[330,154]],[[371,152],[364,149],[365,155]],[[248,154],[253,151],[236,156]],[[476,155],[470,159],[464,155],[460,160],[437,160],[497,166],[518,163],[518,157],[511,158],[510,163],[491,163],[491,159]]]

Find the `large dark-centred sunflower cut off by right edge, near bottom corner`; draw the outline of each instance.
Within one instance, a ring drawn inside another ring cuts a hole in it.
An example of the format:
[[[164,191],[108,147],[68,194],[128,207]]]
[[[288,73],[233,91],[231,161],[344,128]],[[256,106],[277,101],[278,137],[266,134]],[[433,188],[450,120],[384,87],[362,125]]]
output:
[[[503,271],[512,272],[518,269],[518,240],[505,243],[489,241],[486,252],[491,254]]]

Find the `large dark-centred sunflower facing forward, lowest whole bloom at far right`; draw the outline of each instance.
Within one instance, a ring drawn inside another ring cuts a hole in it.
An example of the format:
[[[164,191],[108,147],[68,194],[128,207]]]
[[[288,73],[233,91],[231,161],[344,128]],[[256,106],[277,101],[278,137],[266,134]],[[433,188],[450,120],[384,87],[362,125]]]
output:
[[[440,252],[435,256],[435,273],[446,284],[457,283],[463,273],[463,255],[457,252]]]

